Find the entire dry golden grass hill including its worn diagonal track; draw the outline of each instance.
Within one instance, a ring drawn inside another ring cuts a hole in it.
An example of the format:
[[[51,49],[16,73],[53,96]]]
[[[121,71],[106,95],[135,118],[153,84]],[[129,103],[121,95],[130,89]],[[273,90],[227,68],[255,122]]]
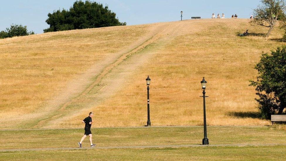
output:
[[[248,86],[261,52],[283,44],[266,32],[201,19],[2,39],[0,128],[76,128],[89,111],[94,127],[144,126],[147,75],[152,126],[202,125],[203,76],[208,125],[268,125]]]

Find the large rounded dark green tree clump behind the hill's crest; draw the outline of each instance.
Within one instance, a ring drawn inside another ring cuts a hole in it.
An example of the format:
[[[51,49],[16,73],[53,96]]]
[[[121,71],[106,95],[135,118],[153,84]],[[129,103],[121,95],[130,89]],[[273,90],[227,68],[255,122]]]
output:
[[[57,10],[48,17],[50,27],[44,32],[126,25],[119,22],[108,6],[91,1],[76,1],[69,10]]]

